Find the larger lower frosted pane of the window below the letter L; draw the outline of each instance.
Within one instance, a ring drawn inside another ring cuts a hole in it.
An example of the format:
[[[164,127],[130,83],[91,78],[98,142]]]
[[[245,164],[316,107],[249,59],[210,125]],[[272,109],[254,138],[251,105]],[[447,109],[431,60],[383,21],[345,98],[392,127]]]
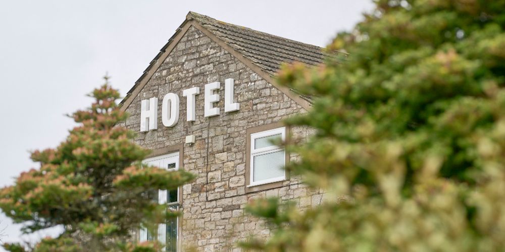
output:
[[[284,150],[254,157],[252,181],[284,176]]]

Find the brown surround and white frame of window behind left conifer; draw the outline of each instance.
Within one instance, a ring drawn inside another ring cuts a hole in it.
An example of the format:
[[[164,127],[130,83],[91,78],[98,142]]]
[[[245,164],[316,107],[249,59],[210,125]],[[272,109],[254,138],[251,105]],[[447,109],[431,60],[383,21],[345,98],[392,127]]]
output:
[[[162,159],[162,158],[170,158],[170,157],[173,157],[173,156],[179,156],[179,159],[177,160],[177,164],[176,164],[176,168],[175,170],[178,170],[178,169],[182,169],[183,168],[183,155],[184,155],[184,144],[178,144],[178,145],[174,145],[174,146],[168,146],[168,147],[164,147],[164,148],[160,148],[160,149],[155,149],[155,150],[151,150],[151,153],[145,157],[144,160],[142,160],[142,162],[145,162],[146,160],[147,161],[154,161],[154,160],[158,160],[158,159]],[[163,203],[167,208],[171,208],[171,207],[174,207],[176,206],[178,208],[178,211],[183,211],[184,208],[183,208],[183,200],[182,200],[182,185],[179,186],[177,188],[177,201],[176,202],[172,202],[172,203]],[[177,220],[176,220],[176,223],[177,223],[177,251],[181,251],[181,245],[182,245],[182,241],[181,241],[181,235],[182,235],[182,216],[178,216],[177,217]],[[163,223],[166,225],[166,223]],[[163,225],[163,224],[160,224],[160,225]],[[159,226],[160,226],[159,225]],[[160,227],[158,227],[160,228]],[[156,230],[156,234],[154,235],[154,237],[156,237],[156,239],[158,239],[158,230]],[[138,229],[137,231],[137,241],[140,241],[140,229]]]

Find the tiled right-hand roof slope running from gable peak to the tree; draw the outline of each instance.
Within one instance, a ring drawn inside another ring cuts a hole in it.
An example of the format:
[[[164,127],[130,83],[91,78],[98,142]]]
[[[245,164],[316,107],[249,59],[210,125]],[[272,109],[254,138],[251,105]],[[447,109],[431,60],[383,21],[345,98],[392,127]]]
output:
[[[186,19],[196,20],[271,75],[279,70],[283,62],[300,61],[318,65],[324,59],[319,46],[225,23],[194,12],[189,12]]]

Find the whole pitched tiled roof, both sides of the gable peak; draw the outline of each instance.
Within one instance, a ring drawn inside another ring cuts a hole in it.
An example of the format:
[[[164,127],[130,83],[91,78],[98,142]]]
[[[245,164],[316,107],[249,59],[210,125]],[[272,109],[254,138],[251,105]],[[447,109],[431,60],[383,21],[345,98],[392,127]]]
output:
[[[120,102],[121,106],[126,105],[123,109],[126,109],[129,102],[131,102],[131,96],[136,95],[133,93],[138,93],[137,88],[141,89],[143,85],[145,85],[146,80],[144,79],[150,77],[153,73],[153,71],[151,71],[153,67],[159,66],[159,59],[161,58],[161,61],[163,61],[163,57],[167,56],[166,52],[170,52],[173,46],[175,46],[173,42],[176,44],[179,41],[181,37],[179,33],[181,31],[183,33],[185,32],[184,28],[186,27],[187,29],[186,25],[188,23],[203,27],[205,30],[209,31],[210,34],[231,47],[232,50],[237,51],[240,55],[250,60],[252,64],[266,73],[266,75],[258,73],[264,78],[274,76],[283,62],[289,63],[292,61],[299,61],[307,65],[316,66],[321,64],[325,57],[322,48],[319,46],[301,43],[246,27],[225,23],[195,12],[189,12],[186,15],[186,20],[179,26],[174,35],[168,40],[167,44],[161,48],[156,57],[150,61],[149,66],[144,70],[142,76],[140,76],[135,82],[135,85],[127,92],[126,97]],[[275,85],[274,83],[272,84]],[[281,89],[281,91],[285,92],[283,89]],[[287,95],[293,98],[292,95]],[[299,95],[298,98],[305,100],[303,103],[310,101],[310,98],[306,96]],[[307,108],[307,105],[302,106]]]

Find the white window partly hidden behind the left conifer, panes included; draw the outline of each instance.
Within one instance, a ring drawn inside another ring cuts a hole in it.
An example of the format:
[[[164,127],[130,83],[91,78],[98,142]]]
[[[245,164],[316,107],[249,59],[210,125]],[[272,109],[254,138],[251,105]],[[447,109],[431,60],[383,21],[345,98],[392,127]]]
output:
[[[179,169],[179,152],[173,152],[166,155],[147,158],[142,161],[142,164],[157,166],[167,170]],[[174,190],[159,190],[158,203],[167,206],[167,209],[178,211],[180,206],[179,188]],[[179,218],[168,219],[166,223],[158,225],[156,234],[151,234],[145,228],[140,229],[139,241],[158,240],[164,245],[162,251],[176,252],[178,244],[178,224]]]

